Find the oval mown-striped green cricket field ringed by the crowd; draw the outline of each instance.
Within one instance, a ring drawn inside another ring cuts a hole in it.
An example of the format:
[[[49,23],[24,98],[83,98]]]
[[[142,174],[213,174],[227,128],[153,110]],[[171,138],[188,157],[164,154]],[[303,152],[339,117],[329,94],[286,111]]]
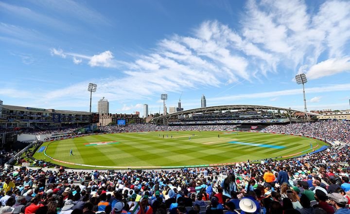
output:
[[[39,149],[34,158],[81,169],[176,168],[300,156],[312,151],[310,143],[315,150],[326,145],[304,137],[251,132],[118,133],[43,143],[39,148],[46,150]]]

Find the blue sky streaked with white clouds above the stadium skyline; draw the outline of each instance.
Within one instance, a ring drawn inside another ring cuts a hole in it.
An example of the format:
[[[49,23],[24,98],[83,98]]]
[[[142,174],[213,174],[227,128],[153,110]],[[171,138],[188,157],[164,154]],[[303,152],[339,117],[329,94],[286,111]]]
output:
[[[0,1],[0,47],[5,105],[349,109],[349,1]]]

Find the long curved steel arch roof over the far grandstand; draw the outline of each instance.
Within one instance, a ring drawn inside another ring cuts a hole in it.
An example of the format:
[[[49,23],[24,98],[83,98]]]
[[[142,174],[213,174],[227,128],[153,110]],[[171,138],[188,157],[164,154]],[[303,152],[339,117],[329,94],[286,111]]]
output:
[[[258,106],[258,105],[225,105],[225,106],[194,108],[194,109],[190,109],[190,110],[179,111],[179,112],[155,117],[152,119],[152,122],[154,122],[156,124],[159,124],[159,123],[168,124],[168,121],[171,117],[179,117],[179,116],[181,117],[183,115],[188,115],[188,114],[221,112],[221,111],[228,111],[228,110],[238,110],[238,111],[247,111],[247,110],[254,110],[254,111],[274,110],[275,111],[275,110],[280,110],[280,111],[285,112],[288,115],[288,117],[299,118],[300,116],[306,116],[307,120],[309,120],[310,117],[321,116],[320,114],[317,114],[317,113],[300,111],[297,109],[283,108],[283,107]]]

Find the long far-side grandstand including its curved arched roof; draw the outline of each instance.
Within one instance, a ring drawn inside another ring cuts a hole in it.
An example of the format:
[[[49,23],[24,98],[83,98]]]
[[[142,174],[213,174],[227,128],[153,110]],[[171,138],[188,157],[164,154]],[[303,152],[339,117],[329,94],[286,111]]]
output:
[[[320,114],[291,108],[226,105],[201,107],[153,118],[155,124],[164,125],[238,125],[242,129],[261,129],[271,124],[297,123],[315,120]]]

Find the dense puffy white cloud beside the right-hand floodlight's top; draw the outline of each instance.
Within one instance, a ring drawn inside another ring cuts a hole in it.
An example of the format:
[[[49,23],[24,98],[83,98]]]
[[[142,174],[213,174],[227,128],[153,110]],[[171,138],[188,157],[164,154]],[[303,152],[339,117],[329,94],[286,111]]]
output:
[[[306,74],[308,79],[318,79],[344,71],[350,71],[350,57],[327,59],[312,66]]]

